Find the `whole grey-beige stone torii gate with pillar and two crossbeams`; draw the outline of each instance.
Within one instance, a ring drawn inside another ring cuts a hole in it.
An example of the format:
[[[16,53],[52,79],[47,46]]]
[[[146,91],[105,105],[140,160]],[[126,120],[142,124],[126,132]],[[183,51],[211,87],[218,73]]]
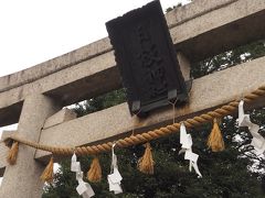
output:
[[[168,26],[186,79],[190,63],[264,37],[264,0],[197,0],[167,15]],[[265,85],[265,57],[214,73],[193,81],[190,102],[176,120],[194,117],[240,98]],[[0,125],[19,122],[19,136],[47,145],[87,145],[165,125],[168,108],[145,120],[131,119],[127,103],[76,119],[62,107],[121,87],[108,38],[0,78]],[[264,99],[255,107],[265,105]],[[253,108],[248,107],[248,108]],[[4,132],[4,135],[10,132]],[[6,163],[0,144],[1,198],[41,197],[39,177],[50,153],[20,146],[17,165]]]

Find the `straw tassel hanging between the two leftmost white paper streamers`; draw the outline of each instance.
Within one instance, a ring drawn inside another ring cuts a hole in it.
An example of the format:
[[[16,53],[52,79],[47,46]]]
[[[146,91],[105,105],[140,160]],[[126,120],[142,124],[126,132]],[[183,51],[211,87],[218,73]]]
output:
[[[92,183],[98,183],[102,180],[102,167],[97,156],[92,161],[91,168],[87,172],[87,179]]]

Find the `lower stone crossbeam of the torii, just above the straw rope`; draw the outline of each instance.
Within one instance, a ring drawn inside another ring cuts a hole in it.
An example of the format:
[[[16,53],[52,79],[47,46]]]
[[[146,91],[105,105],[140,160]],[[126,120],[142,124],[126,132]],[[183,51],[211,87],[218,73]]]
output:
[[[265,85],[265,57],[257,58],[193,80],[190,102],[176,110],[176,120],[181,121],[240,99]],[[229,85],[229,86],[227,86]],[[248,108],[263,107],[264,98]],[[135,119],[135,120],[134,120]],[[57,146],[87,145],[113,141],[131,134],[134,123],[138,132],[172,122],[172,110],[160,109],[147,119],[131,118],[127,103],[105,109],[42,131],[40,143]],[[75,136],[75,139],[73,139]],[[49,153],[38,151],[36,158],[46,158]]]

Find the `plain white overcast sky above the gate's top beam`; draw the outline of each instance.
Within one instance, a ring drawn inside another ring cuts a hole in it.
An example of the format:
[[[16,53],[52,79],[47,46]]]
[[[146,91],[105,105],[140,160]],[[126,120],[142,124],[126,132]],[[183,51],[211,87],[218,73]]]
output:
[[[0,76],[107,36],[105,22],[150,0],[0,0]],[[189,0],[160,0],[163,10]]]

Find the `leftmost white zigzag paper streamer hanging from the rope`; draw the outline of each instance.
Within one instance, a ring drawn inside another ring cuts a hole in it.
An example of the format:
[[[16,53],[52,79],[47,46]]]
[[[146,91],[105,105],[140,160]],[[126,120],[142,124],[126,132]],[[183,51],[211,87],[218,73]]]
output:
[[[83,198],[93,197],[95,195],[95,193],[92,189],[91,185],[83,180],[83,172],[81,170],[81,164],[80,164],[80,162],[77,162],[75,153],[73,154],[72,160],[71,160],[71,172],[76,173],[76,180],[78,182],[78,186],[76,187],[76,191]]]

